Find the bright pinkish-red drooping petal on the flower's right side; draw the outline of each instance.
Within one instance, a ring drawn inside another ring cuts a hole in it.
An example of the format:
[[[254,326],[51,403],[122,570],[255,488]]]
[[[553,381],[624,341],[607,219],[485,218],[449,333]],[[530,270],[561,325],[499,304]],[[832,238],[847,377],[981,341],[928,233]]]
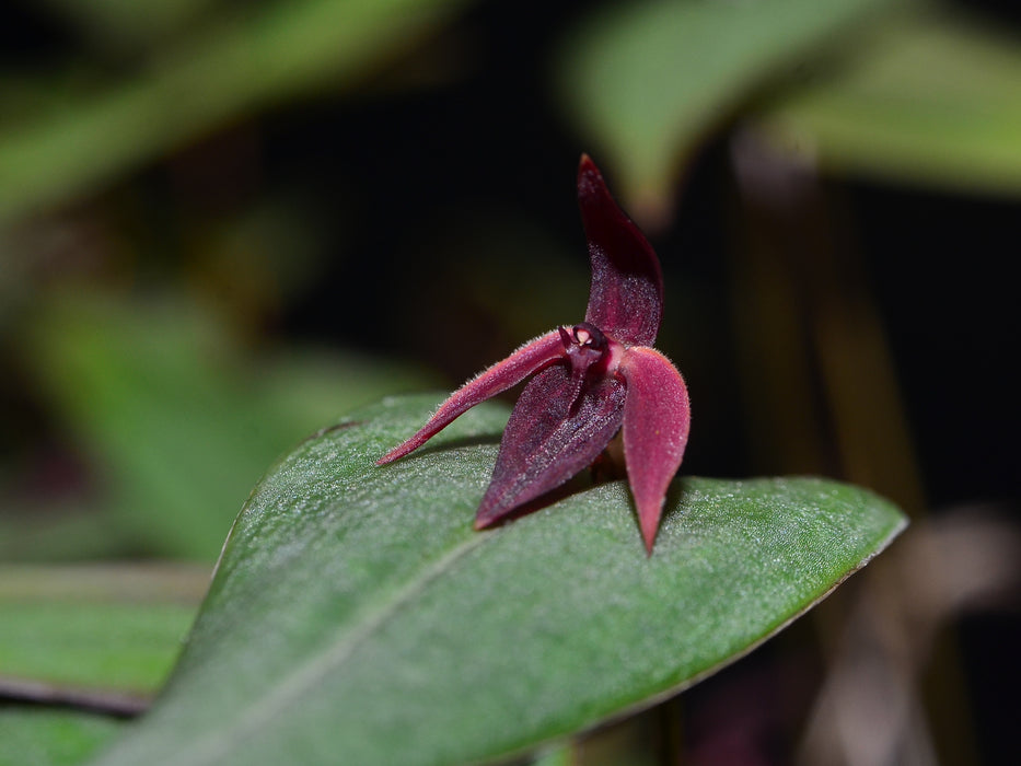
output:
[[[687,444],[687,387],[670,360],[652,348],[627,349],[618,371],[627,382],[624,462],[641,536],[651,554],[666,489]]]

